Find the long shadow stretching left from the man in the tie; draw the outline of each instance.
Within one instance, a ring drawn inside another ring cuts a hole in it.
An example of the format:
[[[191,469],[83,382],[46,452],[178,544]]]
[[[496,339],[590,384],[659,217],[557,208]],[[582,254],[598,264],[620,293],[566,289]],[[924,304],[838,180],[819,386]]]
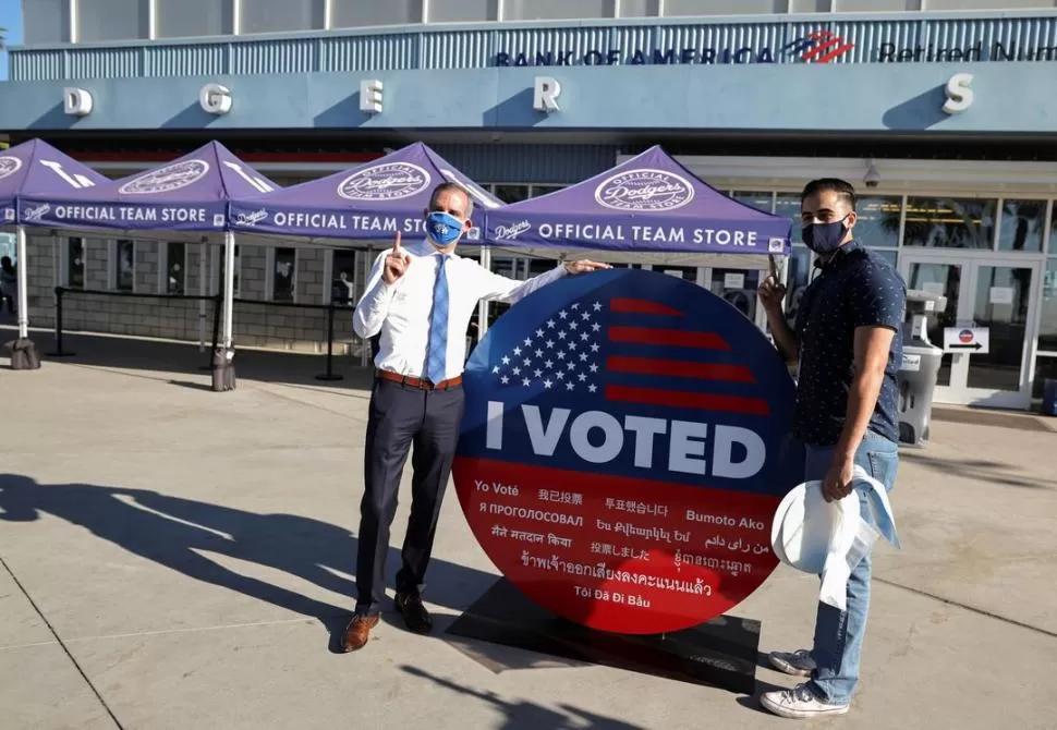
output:
[[[84,527],[133,555],[189,577],[317,619],[330,632],[331,650],[340,646],[355,596],[355,584],[332,572],[355,574],[356,538],[343,527],[293,514],[257,514],[146,489],[41,485],[26,476],[0,474],[0,521],[33,522],[41,513]],[[198,550],[280,570],[350,596],[349,608],[241,575]],[[390,573],[399,565],[399,550],[390,548]],[[434,558],[426,598],[462,611],[495,580],[495,575]]]

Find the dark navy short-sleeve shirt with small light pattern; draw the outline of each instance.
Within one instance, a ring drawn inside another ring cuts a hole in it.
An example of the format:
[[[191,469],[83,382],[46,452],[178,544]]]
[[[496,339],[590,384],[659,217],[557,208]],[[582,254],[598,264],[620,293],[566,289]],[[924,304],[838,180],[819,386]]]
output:
[[[840,440],[855,375],[855,329],[889,327],[896,336],[868,429],[898,441],[896,374],[902,361],[907,285],[891,264],[855,241],[818,268],[797,315],[800,370],[793,434],[811,446]]]

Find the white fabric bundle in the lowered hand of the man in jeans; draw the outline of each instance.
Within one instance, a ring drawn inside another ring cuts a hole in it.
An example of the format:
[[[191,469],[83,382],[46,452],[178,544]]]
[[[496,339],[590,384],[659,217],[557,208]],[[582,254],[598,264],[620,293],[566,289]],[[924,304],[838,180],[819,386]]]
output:
[[[843,499],[827,502],[822,482],[805,482],[781,500],[770,527],[778,559],[821,575],[818,600],[841,611],[848,607],[848,577],[877,538],[899,547],[885,486],[856,465],[852,487]],[[861,513],[858,492],[866,496],[867,514]]]

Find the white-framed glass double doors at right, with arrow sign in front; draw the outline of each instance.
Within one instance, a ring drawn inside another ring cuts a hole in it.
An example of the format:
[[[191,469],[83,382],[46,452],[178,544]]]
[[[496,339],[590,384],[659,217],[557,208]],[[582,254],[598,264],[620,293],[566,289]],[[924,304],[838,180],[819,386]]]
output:
[[[1041,265],[1019,258],[973,257],[951,263],[950,255],[904,253],[902,275],[910,289],[947,297],[947,308],[931,318],[928,340],[943,346],[944,328],[986,328],[984,354],[945,353],[936,388],[944,403],[1025,409],[1028,334],[1033,331],[1031,302],[1041,283]]]

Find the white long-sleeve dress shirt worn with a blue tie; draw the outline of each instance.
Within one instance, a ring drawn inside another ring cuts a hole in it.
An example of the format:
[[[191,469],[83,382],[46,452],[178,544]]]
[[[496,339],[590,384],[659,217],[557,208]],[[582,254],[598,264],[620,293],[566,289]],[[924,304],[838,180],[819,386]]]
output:
[[[352,327],[364,340],[381,333],[375,366],[399,375],[421,378],[429,344],[429,315],[437,280],[437,252],[427,241],[404,247],[411,260],[403,276],[392,284],[381,277],[385,251],[375,259],[363,297],[356,304]],[[527,281],[493,273],[472,258],[449,254],[448,350],[445,379],[462,375],[466,361],[466,328],[477,302],[483,299],[513,303],[566,275],[558,266]]]

